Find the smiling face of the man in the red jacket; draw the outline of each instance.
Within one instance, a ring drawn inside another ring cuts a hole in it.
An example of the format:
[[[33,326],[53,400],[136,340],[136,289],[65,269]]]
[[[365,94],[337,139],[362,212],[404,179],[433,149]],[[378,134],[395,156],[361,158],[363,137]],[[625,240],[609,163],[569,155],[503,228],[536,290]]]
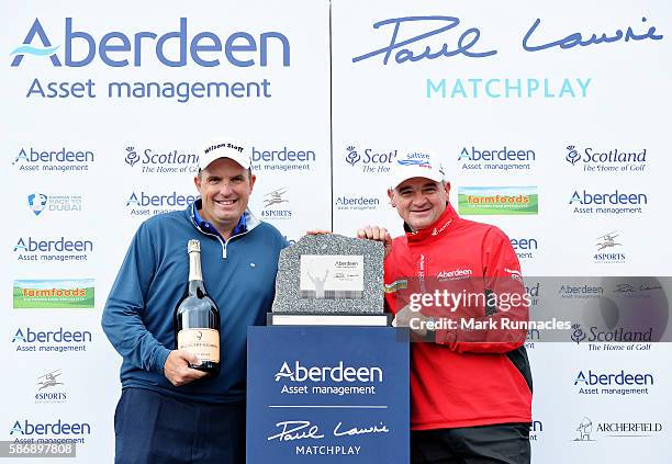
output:
[[[450,183],[425,178],[406,179],[388,191],[392,206],[414,231],[429,227],[440,217],[449,193]]]

